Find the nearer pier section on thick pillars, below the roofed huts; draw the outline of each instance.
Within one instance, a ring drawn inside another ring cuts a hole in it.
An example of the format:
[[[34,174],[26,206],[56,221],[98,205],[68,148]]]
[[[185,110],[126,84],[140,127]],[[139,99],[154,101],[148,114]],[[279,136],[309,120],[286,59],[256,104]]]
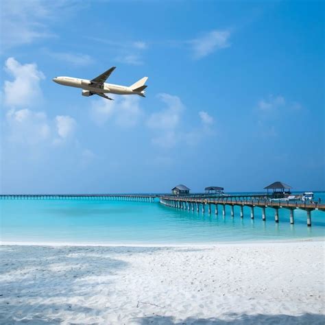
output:
[[[249,197],[249,200],[248,200]],[[226,206],[230,206],[230,215],[234,217],[234,206],[240,207],[240,217],[243,218],[243,207],[248,206],[250,208],[250,217],[254,219],[254,208],[259,207],[262,209],[262,220],[266,220],[266,208],[274,208],[274,221],[279,222],[279,209],[286,208],[290,211],[290,224],[294,224],[294,210],[302,209],[306,211],[307,226],[311,226],[311,211],[321,210],[325,211],[325,204],[317,202],[290,202],[290,201],[272,201],[265,195],[229,195],[222,197],[173,197],[173,196],[161,196],[160,203],[165,204],[171,208],[180,208],[183,210],[192,210],[205,213],[208,208],[208,213],[212,213],[211,206],[215,208],[215,215],[218,215],[218,206],[222,207],[222,215],[226,215]]]

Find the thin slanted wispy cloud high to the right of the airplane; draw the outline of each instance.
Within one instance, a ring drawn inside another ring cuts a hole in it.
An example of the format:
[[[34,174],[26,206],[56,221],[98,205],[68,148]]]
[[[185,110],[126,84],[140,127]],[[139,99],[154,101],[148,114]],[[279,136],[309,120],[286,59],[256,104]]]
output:
[[[204,58],[218,49],[230,47],[228,30],[213,30],[201,37],[189,41],[195,59]]]

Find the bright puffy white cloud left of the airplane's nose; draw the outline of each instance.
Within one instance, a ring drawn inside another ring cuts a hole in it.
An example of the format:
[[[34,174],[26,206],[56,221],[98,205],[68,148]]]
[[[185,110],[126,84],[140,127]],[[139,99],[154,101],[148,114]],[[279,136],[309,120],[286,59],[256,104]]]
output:
[[[14,77],[6,80],[3,87],[5,104],[8,106],[28,106],[39,102],[42,97],[40,80],[45,79],[35,63],[21,64],[14,58],[5,61],[5,71]]]

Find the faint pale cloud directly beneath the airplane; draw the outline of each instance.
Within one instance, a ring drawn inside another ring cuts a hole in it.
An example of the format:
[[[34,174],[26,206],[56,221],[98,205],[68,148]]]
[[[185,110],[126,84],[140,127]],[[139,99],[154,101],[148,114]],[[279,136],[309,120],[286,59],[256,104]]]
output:
[[[115,101],[97,99],[91,104],[91,117],[95,123],[102,125],[109,119],[121,127],[132,127],[138,123],[142,115],[139,97],[122,95]]]

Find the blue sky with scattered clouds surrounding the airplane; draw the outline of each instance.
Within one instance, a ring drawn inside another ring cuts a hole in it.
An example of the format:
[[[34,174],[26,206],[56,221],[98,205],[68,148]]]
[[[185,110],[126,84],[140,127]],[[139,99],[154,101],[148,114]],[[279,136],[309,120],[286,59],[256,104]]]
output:
[[[1,192],[324,190],[324,2],[1,1]],[[147,75],[147,97],[52,82]]]

